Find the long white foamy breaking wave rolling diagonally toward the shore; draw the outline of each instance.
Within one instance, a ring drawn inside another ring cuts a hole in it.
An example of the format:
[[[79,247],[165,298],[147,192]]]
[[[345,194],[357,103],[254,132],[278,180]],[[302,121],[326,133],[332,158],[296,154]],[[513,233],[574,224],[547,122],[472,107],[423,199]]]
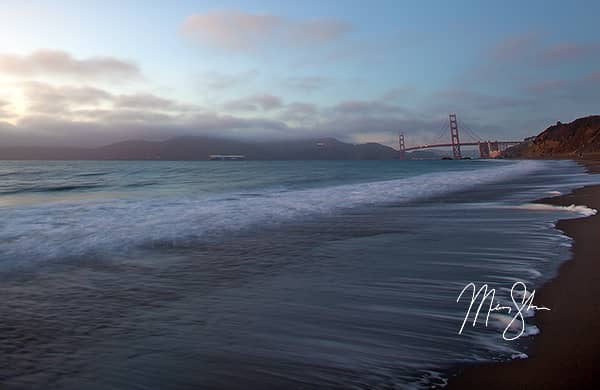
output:
[[[257,225],[465,191],[542,167],[537,161],[520,161],[404,179],[261,191],[262,196],[253,197],[244,196],[245,192],[195,199],[116,199],[3,208],[3,220],[11,222],[0,227],[0,248],[4,259],[47,259],[132,247],[183,246]]]

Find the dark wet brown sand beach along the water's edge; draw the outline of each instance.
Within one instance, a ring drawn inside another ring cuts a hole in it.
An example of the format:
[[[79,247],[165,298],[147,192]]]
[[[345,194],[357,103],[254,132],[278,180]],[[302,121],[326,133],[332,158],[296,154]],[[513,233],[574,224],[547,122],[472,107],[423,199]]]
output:
[[[600,172],[600,161],[582,161]],[[587,205],[600,210],[600,185],[540,202]],[[573,256],[558,276],[538,289],[541,330],[529,359],[467,367],[451,377],[450,389],[600,389],[600,213],[561,220],[558,229],[574,239]]]

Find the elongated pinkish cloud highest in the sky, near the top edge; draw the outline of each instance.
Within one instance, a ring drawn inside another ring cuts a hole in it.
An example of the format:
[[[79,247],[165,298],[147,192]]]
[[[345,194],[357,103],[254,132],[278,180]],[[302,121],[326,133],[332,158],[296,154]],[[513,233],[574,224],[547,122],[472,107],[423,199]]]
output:
[[[181,29],[202,45],[239,51],[321,45],[343,37],[352,26],[334,19],[290,20],[268,13],[221,10],[191,15]]]

